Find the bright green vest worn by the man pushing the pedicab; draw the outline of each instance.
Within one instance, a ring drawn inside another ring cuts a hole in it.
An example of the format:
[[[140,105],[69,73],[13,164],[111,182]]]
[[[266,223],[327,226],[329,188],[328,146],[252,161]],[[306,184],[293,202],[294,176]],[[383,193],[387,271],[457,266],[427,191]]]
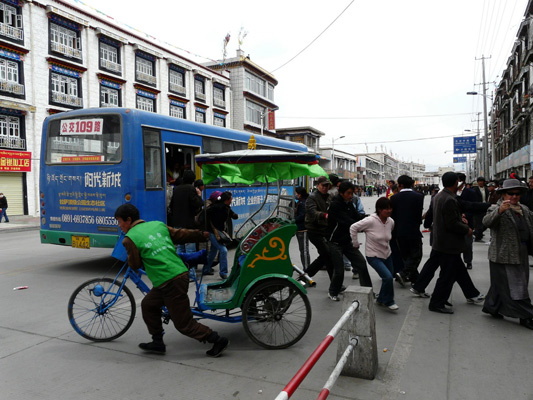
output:
[[[176,254],[167,226],[160,221],[135,225],[126,234],[137,249],[146,275],[154,287],[186,272],[188,269]]]

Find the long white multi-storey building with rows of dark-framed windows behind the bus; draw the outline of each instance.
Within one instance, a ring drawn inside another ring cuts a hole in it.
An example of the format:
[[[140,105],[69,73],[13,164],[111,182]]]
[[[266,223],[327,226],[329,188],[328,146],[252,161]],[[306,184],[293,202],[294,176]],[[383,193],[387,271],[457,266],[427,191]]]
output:
[[[230,127],[227,73],[66,1],[0,0],[0,192],[38,215],[44,119],[127,107]]]

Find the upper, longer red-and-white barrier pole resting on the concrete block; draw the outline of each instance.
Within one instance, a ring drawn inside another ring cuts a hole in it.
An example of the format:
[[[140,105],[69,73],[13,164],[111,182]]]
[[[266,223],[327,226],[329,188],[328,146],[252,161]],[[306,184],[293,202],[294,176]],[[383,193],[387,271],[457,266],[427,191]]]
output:
[[[305,377],[309,374],[311,369],[315,366],[315,364],[318,362],[322,354],[326,351],[326,349],[329,347],[331,342],[333,342],[333,339],[335,338],[335,335],[339,333],[343,325],[348,321],[350,316],[354,313],[355,310],[359,307],[359,302],[357,300],[354,300],[350,307],[346,310],[346,312],[342,315],[341,319],[335,324],[335,326],[329,331],[326,338],[318,345],[318,347],[313,351],[311,356],[307,359],[307,361],[302,365],[302,367],[298,370],[296,375],[289,381],[287,386],[281,391],[280,394],[276,397],[275,400],[287,400],[289,399],[298,386],[302,383],[302,381],[305,379]]]

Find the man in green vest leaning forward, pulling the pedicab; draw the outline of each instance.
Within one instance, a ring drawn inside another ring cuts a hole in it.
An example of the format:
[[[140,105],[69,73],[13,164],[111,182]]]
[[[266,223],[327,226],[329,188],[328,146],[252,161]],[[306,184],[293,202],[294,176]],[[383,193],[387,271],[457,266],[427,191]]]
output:
[[[152,335],[152,342],[141,343],[139,347],[151,353],[165,353],[161,307],[166,306],[179,332],[200,342],[213,343],[206,354],[210,357],[220,356],[229,340],[193,318],[187,295],[188,268],[176,254],[174,247],[174,243],[205,242],[209,233],[174,229],[160,221],[143,221],[139,210],[132,204],[118,207],[115,218],[126,234],[122,244],[128,253],[129,266],[144,267],[153,284],[152,290],[141,302],[143,320]]]

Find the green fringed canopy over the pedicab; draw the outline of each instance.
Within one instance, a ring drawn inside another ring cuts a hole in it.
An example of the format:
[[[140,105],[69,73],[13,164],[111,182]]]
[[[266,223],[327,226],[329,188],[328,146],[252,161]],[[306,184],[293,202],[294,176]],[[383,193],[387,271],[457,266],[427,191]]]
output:
[[[205,183],[217,177],[230,183],[251,185],[300,176],[327,176],[313,153],[289,153],[278,150],[238,150],[219,154],[199,154],[196,163],[202,168]]]

